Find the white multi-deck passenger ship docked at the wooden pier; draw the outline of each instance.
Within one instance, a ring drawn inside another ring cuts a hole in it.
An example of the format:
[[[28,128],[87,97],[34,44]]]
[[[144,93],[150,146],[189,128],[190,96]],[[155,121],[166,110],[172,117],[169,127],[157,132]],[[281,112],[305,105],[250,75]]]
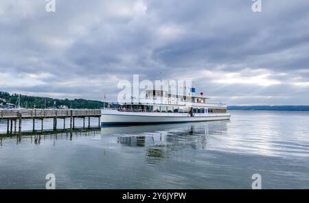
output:
[[[194,89],[195,92],[195,88]],[[226,104],[208,103],[203,93],[170,94],[163,90],[146,90],[144,97],[119,104],[119,108],[102,110],[102,126],[184,123],[229,120]]]

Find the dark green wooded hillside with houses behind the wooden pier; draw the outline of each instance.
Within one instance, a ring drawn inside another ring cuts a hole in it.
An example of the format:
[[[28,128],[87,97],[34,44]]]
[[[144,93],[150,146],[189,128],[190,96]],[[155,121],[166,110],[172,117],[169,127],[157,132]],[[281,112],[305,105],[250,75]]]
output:
[[[0,104],[16,104],[18,94],[5,93],[0,91]],[[104,102],[87,99],[53,99],[49,97],[32,97],[21,95],[21,107],[23,108],[53,108],[54,101],[56,101],[55,108],[103,108]],[[106,104],[105,104],[106,105]]]

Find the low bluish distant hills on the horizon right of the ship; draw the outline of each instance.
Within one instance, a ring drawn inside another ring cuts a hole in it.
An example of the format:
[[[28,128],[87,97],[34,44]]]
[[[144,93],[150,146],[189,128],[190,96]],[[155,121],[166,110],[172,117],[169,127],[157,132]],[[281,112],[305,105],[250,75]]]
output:
[[[309,106],[228,106],[229,110],[299,110],[309,111]]]

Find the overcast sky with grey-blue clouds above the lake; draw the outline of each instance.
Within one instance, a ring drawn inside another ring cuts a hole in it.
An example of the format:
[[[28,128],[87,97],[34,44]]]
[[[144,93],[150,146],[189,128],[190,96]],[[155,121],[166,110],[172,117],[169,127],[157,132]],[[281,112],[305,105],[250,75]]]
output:
[[[227,104],[309,104],[308,0],[46,3],[0,1],[1,91],[111,100],[139,74]]]

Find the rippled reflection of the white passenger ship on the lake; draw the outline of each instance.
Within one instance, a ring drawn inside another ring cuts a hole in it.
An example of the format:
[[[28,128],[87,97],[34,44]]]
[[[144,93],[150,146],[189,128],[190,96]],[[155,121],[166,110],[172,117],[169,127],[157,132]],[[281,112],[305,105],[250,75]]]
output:
[[[222,129],[227,129],[227,122],[222,121]],[[148,163],[156,163],[163,160],[168,154],[177,150],[198,150],[207,147],[207,136],[209,134],[208,123],[203,126],[186,125],[179,128],[175,125],[139,126],[122,128],[102,128],[102,134],[122,134],[117,138],[118,143],[127,147],[145,147],[146,160]],[[166,130],[170,128],[170,130]],[[176,129],[174,129],[176,128]],[[147,129],[144,135],[143,129]],[[165,130],[164,130],[165,129]],[[143,134],[130,136],[131,134]]]

